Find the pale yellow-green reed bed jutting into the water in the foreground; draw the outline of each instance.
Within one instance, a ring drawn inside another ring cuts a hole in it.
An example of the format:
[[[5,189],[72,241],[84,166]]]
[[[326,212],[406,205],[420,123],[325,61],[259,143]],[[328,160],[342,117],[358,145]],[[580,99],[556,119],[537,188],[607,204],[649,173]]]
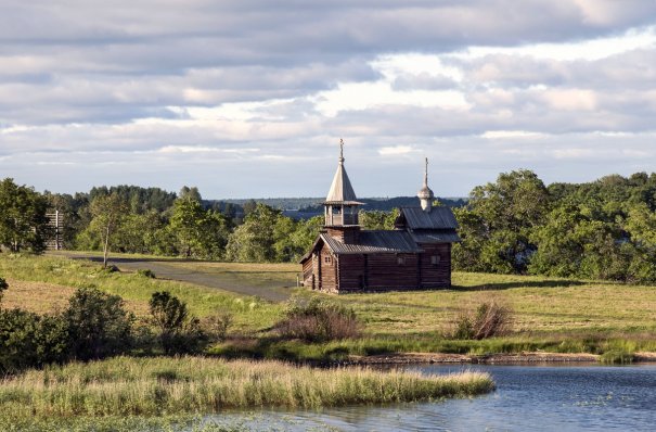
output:
[[[259,407],[319,408],[468,397],[487,373],[422,376],[280,361],[116,357],[51,366],[0,381],[0,411],[15,418],[163,416]]]

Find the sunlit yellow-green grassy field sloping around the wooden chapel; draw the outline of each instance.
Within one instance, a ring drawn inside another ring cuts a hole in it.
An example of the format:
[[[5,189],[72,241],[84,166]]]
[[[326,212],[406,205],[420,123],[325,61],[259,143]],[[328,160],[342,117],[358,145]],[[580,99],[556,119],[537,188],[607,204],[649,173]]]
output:
[[[189,271],[230,275],[253,287],[295,283],[299,270],[293,264],[175,262],[173,265]],[[386,352],[656,351],[655,287],[455,272],[453,288],[439,291],[335,296],[301,288],[294,291],[295,296],[323,296],[343,303],[352,307],[364,322],[362,339],[308,345],[281,342],[272,336],[269,329],[283,316],[284,304],[228,291],[134,274],[105,274],[98,264],[52,256],[0,255],[0,277],[10,283],[5,306],[40,313],[62,307],[72,288],[94,285],[123,296],[128,307],[145,315],[151,294],[168,290],[184,300],[200,317],[222,310],[234,315],[232,333],[247,339],[237,338],[213,351],[230,356],[332,359],[347,354]],[[491,300],[513,309],[510,334],[486,341],[446,338],[460,314]]]

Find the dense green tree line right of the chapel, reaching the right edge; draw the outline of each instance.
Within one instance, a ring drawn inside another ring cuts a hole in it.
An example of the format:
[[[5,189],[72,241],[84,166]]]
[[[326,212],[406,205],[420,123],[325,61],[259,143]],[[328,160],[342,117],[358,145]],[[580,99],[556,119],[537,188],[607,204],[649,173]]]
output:
[[[458,270],[656,281],[656,174],[544,186],[501,174],[455,208]]]

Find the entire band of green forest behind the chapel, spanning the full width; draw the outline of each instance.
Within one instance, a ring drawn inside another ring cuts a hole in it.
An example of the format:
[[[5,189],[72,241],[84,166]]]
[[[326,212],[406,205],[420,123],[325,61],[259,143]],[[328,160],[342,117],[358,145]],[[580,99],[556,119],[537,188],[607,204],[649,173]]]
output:
[[[64,216],[67,249],[235,262],[294,262],[323,224],[321,199],[203,200],[134,186],[38,193],[0,182],[0,245],[40,253],[47,212]],[[414,196],[363,199],[365,229],[394,229],[395,208]],[[460,225],[453,268],[656,282],[656,174],[612,175],[545,186],[530,170],[501,174],[466,199],[439,199]],[[294,217],[291,217],[294,216]]]

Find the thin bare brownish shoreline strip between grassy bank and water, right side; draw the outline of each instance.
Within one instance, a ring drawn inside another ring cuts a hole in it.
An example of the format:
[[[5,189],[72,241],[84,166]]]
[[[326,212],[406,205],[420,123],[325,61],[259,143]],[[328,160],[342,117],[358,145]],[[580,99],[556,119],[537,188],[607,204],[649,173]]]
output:
[[[538,363],[600,363],[601,355],[588,353],[541,353],[519,354],[442,354],[442,353],[395,353],[374,356],[352,356],[348,365],[411,365],[411,364],[538,364]],[[634,353],[632,363],[655,363],[656,353]]]

